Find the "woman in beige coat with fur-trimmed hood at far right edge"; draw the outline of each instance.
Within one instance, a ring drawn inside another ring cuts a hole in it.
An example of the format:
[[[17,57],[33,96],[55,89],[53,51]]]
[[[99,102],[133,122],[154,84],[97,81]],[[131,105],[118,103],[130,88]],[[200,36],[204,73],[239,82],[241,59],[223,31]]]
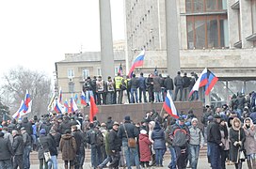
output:
[[[256,168],[256,129],[252,120],[248,117],[244,120],[243,129],[246,134],[245,149],[247,154],[248,169]]]

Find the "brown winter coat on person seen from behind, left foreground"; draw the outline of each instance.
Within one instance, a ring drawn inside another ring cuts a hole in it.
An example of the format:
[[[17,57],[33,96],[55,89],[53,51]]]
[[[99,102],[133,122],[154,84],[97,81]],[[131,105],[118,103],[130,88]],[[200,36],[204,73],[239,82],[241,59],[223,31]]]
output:
[[[76,154],[76,143],[72,134],[63,134],[59,143],[60,151],[62,152],[62,161],[73,161]]]

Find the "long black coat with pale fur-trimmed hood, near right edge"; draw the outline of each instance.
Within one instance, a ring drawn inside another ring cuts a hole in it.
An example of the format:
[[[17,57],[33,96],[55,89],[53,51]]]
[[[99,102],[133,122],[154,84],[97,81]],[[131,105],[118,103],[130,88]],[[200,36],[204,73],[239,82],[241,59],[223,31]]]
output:
[[[231,161],[232,162],[235,162],[235,163],[238,163],[239,159],[238,159],[238,156],[239,156],[239,150],[242,150],[244,149],[244,142],[246,140],[246,136],[245,136],[245,132],[244,130],[241,128],[241,122],[240,122],[240,126],[238,128],[236,128],[234,126],[234,120],[235,119],[238,119],[238,118],[233,118],[232,120],[232,128],[230,130],[230,140],[231,140],[231,148],[230,148],[230,155],[231,155]],[[240,132],[240,138],[238,138],[238,135],[239,135],[239,132]],[[238,141],[241,141],[242,142],[242,145],[236,145],[234,146],[234,142],[238,142]]]

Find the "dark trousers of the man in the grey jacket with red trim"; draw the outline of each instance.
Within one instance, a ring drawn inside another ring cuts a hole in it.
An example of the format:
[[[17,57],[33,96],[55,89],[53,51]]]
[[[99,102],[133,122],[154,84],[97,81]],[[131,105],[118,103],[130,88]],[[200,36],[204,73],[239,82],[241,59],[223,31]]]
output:
[[[178,169],[185,169],[186,168],[186,161],[188,156],[188,151],[186,146],[173,146],[176,153],[177,158],[177,168]]]

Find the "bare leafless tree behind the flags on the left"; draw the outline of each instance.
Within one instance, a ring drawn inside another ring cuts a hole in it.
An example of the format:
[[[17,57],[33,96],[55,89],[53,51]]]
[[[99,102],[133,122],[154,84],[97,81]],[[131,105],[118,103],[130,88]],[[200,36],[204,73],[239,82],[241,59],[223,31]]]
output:
[[[53,93],[51,79],[44,73],[23,67],[10,69],[3,77],[2,100],[9,107],[10,114],[18,110],[26,89],[33,100],[32,112],[28,116],[46,114],[50,93]]]

